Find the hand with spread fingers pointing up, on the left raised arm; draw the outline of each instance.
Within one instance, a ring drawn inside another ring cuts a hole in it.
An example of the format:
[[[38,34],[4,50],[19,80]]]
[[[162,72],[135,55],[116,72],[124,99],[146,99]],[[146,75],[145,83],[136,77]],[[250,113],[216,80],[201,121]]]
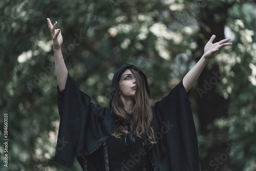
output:
[[[48,23],[48,28],[52,34],[52,40],[53,40],[53,49],[59,49],[63,39],[62,39],[62,35],[60,33],[60,29],[55,29],[57,26],[57,22],[54,23],[54,25],[52,25],[51,20],[49,18],[47,18],[47,23]]]

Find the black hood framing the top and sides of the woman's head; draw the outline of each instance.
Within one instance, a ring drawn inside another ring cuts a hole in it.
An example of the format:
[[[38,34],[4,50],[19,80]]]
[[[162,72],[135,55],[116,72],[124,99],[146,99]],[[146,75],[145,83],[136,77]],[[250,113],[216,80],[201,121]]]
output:
[[[142,74],[144,80],[145,80],[145,84],[146,84],[146,91],[148,93],[148,96],[150,97],[150,89],[148,88],[148,84],[147,84],[147,78],[146,78],[146,75],[136,66],[134,65],[131,65],[129,63],[125,63],[121,68],[119,68],[116,73],[114,74],[113,76],[113,79],[112,79],[112,87],[111,87],[111,92],[110,92],[110,102],[111,102],[111,99],[113,97],[113,95],[115,93],[117,93],[116,91],[116,88],[117,88],[117,81],[118,81],[118,78],[119,78],[119,75],[126,69],[126,68],[132,68],[134,69],[135,71],[138,71],[139,73]],[[111,103],[110,103],[111,105]]]

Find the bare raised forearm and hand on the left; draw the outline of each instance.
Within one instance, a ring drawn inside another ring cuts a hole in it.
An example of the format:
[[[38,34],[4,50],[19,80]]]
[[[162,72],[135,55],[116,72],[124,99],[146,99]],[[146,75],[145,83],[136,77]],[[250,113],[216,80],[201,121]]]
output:
[[[47,23],[48,23],[48,28],[52,34],[57,82],[58,82],[59,90],[62,91],[65,89],[67,78],[68,78],[68,69],[65,65],[62,52],[61,52],[61,44],[63,42],[63,39],[60,33],[60,29],[55,29],[57,22],[55,22],[54,25],[52,25],[51,20],[47,18]]]

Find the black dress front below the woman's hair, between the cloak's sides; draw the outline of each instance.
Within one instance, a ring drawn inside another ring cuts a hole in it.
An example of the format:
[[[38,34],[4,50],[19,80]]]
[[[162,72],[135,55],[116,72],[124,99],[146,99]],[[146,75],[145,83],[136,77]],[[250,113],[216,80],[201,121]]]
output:
[[[92,161],[97,161],[100,164],[94,163],[94,166],[88,164],[88,158],[78,157],[78,161],[83,170],[108,170],[108,171],[154,171],[148,156],[147,148],[144,140],[133,136],[130,123],[123,123],[125,125],[126,133],[118,139],[110,136],[104,143],[102,148],[98,149],[98,154],[94,157],[90,155]],[[104,157],[103,157],[104,156]]]

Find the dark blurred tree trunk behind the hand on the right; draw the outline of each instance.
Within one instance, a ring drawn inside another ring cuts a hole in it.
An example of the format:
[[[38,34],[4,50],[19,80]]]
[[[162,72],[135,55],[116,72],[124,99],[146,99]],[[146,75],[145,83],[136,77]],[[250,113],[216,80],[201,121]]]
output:
[[[200,27],[200,38],[197,41],[199,49],[194,52],[193,57],[197,58],[198,54],[203,53],[203,47],[212,34],[216,35],[216,41],[225,38],[224,28],[227,23],[227,10],[233,3],[230,1],[207,1],[199,4],[200,12],[197,14]],[[225,50],[227,51],[227,48]],[[212,123],[216,118],[227,117],[230,101],[228,97],[225,98],[223,94],[217,93],[219,91],[218,82],[226,78],[226,73],[220,72],[220,62],[218,60],[213,59],[211,63],[212,65],[207,66],[198,79],[197,93],[199,96],[196,97],[200,130],[203,136],[208,135],[207,126],[209,123]],[[209,139],[206,143],[208,141]],[[201,144],[200,152],[207,153],[205,157],[200,157],[201,169],[231,169],[229,158],[225,155],[220,157],[221,154],[225,154],[225,149],[228,147],[227,140],[218,143],[215,138],[212,138],[210,141],[213,145],[207,151],[203,148],[207,145]]]

